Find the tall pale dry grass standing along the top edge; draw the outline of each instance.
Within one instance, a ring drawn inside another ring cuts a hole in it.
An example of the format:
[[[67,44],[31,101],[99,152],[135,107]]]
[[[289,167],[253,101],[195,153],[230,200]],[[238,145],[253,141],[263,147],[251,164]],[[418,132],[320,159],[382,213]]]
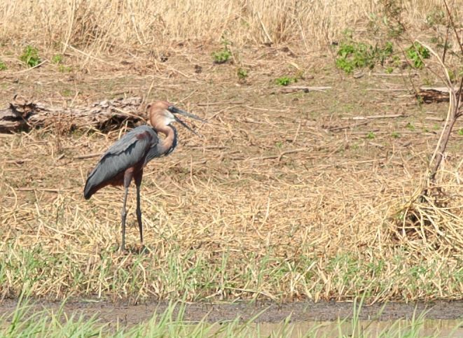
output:
[[[235,45],[293,43],[307,51],[326,47],[346,28],[366,27],[394,1],[336,0],[73,0],[2,1],[0,40],[93,54],[120,50],[160,53],[176,43]],[[458,12],[462,6],[455,5]],[[403,1],[402,20],[420,29],[429,13],[443,10],[439,0]]]

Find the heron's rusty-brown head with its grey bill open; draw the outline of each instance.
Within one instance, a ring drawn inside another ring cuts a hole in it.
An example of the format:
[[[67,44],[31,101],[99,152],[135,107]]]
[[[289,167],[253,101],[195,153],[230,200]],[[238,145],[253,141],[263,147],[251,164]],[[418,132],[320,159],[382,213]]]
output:
[[[180,120],[177,115],[184,115],[188,118],[206,122],[205,120],[202,120],[202,118],[192,113],[182,111],[168,101],[156,101],[153,104],[148,104],[149,121],[155,129],[170,125],[172,122],[179,122],[181,125],[186,127],[186,129],[196,134],[195,131],[191,129],[184,121]]]

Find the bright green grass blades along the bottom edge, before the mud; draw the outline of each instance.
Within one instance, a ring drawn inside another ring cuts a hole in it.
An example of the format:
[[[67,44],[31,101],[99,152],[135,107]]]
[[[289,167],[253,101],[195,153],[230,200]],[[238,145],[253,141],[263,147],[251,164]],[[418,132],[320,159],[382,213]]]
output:
[[[32,311],[28,300],[18,302],[18,307],[9,316],[0,317],[1,337],[441,337],[440,330],[425,329],[426,313],[415,314],[410,319],[381,325],[380,322],[361,322],[363,301],[354,302],[352,319],[337,322],[291,323],[288,317],[281,323],[254,323],[258,315],[249,321],[200,322],[184,319],[185,305],[170,302],[161,314],[153,314],[146,322],[127,327],[123,323],[102,323],[97,315],[85,318],[83,314],[68,315],[64,303],[57,311],[47,309]],[[375,325],[376,324],[376,325]],[[384,324],[384,323],[383,323]],[[463,323],[450,329],[452,337],[462,330]],[[447,334],[449,332],[446,332]]]

